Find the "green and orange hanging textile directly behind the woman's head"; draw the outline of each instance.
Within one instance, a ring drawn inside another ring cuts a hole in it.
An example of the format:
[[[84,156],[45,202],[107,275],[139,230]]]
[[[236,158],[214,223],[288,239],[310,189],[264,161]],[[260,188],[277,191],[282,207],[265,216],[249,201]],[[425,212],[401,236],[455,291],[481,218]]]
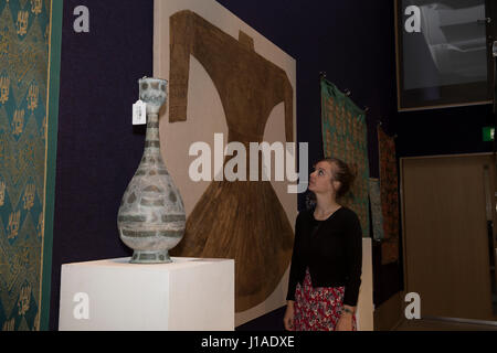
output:
[[[334,84],[321,79],[321,124],[325,157],[341,159],[357,171],[356,182],[345,200],[369,237],[369,160],[366,114]]]

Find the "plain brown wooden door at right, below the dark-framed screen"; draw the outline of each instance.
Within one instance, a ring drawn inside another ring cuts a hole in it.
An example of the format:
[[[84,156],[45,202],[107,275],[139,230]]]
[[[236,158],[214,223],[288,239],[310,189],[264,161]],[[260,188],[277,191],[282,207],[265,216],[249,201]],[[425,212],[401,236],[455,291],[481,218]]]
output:
[[[491,154],[401,159],[405,289],[421,296],[422,317],[493,320],[495,175]]]

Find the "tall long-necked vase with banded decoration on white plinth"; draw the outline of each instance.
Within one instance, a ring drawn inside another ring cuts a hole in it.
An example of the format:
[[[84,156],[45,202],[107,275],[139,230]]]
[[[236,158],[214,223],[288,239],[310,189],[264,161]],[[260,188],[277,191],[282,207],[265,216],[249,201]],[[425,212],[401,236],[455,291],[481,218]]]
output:
[[[159,109],[166,103],[167,81],[142,78],[139,90],[147,104],[145,152],[123,196],[117,227],[123,243],[134,249],[130,263],[167,264],[186,225],[181,194],[160,153]]]

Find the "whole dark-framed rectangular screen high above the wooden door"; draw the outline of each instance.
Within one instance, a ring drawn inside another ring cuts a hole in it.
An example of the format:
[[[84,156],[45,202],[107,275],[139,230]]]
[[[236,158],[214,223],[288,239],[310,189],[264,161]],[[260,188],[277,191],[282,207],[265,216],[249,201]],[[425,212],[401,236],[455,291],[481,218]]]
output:
[[[399,110],[491,103],[493,19],[486,0],[395,4]]]

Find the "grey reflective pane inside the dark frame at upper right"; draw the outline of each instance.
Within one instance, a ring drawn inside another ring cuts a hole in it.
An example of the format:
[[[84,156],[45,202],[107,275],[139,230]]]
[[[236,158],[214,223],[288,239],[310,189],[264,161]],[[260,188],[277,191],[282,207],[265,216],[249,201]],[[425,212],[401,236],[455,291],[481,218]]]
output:
[[[417,7],[421,23],[420,32],[403,31],[403,89],[487,81],[485,0],[403,0],[402,4]]]

